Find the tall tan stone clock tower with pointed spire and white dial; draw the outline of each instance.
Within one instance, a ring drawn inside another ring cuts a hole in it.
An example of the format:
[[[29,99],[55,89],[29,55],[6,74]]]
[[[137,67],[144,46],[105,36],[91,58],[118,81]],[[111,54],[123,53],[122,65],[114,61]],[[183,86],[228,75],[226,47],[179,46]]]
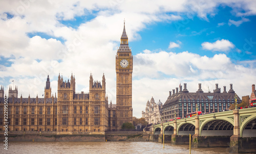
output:
[[[132,74],[133,56],[128,44],[128,37],[123,23],[120,47],[116,55],[116,107],[117,129],[125,122],[133,122]]]

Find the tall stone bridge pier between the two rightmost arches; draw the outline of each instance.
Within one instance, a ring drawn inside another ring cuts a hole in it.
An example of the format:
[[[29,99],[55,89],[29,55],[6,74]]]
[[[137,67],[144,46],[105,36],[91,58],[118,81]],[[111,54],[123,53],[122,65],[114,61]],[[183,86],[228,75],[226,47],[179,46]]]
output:
[[[233,135],[230,137],[229,153],[239,153],[242,149],[242,138],[240,136],[240,118],[239,110],[233,110],[234,115],[234,129]]]

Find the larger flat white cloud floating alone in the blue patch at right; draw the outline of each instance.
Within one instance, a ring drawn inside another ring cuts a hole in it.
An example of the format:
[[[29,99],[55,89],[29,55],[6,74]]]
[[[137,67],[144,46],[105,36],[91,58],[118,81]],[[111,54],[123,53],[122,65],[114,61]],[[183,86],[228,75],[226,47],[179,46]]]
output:
[[[231,48],[234,48],[234,44],[230,42],[229,40],[217,40],[213,43],[210,42],[203,42],[202,44],[203,49],[206,50],[212,50],[212,51],[218,51],[218,52],[227,52]]]

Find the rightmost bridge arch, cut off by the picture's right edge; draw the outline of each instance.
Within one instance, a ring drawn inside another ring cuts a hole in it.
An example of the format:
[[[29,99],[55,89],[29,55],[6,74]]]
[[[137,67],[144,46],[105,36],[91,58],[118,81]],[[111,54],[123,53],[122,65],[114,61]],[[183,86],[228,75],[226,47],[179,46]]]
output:
[[[240,136],[241,137],[256,137],[256,113],[251,113],[248,116],[241,116]]]

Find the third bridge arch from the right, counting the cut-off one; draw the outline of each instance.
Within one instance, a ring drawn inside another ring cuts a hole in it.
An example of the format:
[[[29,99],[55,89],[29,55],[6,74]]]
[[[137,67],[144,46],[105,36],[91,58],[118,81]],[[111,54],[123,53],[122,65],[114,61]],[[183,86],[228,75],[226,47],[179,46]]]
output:
[[[191,121],[182,122],[177,127],[177,135],[194,135],[195,134],[195,123]]]

